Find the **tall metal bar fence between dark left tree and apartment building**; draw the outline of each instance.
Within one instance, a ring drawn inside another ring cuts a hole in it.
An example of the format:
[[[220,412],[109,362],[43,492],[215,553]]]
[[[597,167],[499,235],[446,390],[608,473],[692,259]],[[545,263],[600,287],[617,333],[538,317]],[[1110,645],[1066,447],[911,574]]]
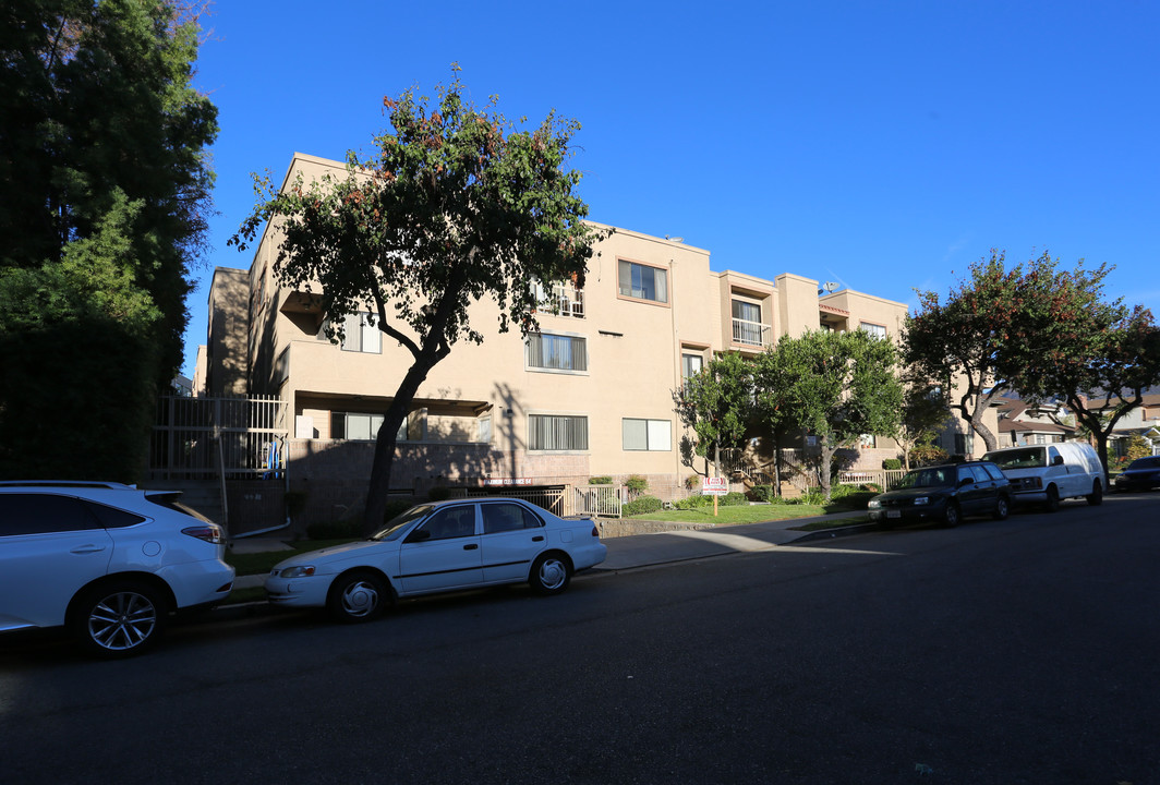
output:
[[[277,479],[285,472],[287,402],[252,398],[158,399],[150,444],[154,479]]]

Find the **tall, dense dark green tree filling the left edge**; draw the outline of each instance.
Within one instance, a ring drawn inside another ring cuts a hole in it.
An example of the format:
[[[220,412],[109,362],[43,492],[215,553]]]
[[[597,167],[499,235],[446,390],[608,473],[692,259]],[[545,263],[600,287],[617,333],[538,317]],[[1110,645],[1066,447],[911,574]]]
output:
[[[176,0],[0,9],[2,474],[143,466],[210,209],[197,16]]]

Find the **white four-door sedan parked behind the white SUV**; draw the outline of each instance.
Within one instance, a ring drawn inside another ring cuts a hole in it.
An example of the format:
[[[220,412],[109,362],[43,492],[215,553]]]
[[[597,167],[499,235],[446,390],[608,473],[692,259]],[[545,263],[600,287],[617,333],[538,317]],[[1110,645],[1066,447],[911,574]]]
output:
[[[461,499],[412,507],[370,539],[287,559],[266,591],[275,605],[367,622],[396,598],[437,591],[528,582],[558,594],[607,553],[590,518],[560,518],[517,499]]]

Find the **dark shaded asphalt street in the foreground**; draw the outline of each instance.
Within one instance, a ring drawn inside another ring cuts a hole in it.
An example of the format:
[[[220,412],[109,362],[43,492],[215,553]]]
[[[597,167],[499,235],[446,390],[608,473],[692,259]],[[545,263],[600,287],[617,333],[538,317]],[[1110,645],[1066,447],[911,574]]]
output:
[[[1160,783],[1160,495],[0,648],[13,783]]]

